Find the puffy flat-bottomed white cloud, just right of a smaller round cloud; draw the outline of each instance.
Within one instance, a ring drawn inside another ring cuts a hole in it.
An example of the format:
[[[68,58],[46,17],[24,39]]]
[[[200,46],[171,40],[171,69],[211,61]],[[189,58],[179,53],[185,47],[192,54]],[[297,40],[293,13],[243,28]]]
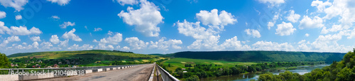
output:
[[[300,25],[298,25],[298,28],[301,30],[303,28],[322,28],[324,27],[323,20],[322,18],[315,16],[312,18],[308,16],[303,16],[302,20],[300,21]]]

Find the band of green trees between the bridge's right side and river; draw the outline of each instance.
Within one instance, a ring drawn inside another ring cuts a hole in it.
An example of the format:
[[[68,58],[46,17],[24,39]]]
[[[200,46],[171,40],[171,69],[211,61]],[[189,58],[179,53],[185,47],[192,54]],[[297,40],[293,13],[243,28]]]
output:
[[[235,65],[234,67],[220,67],[222,65],[206,65],[206,64],[197,64],[193,65],[193,68],[188,68],[182,70],[182,68],[176,68],[175,72],[165,69],[166,66],[163,66],[163,69],[172,73],[173,76],[178,78],[185,78],[186,80],[194,80],[197,75],[198,78],[204,77],[219,77],[222,75],[239,75],[246,72],[258,72],[261,70],[266,70],[270,68],[289,68],[299,65],[315,65],[315,64],[324,64],[324,62],[273,62],[273,63],[258,63],[255,65]],[[186,64],[185,66],[190,66]],[[184,72],[185,71],[185,72]]]

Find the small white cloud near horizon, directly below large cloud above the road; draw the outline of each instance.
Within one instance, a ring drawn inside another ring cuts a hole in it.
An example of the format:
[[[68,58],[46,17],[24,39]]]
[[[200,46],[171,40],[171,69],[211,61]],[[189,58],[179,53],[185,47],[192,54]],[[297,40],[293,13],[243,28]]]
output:
[[[137,37],[126,38],[124,39],[124,41],[129,43],[129,46],[131,46],[133,50],[140,50],[142,48],[146,48],[149,44],[148,42],[144,43],[144,41],[139,40]]]

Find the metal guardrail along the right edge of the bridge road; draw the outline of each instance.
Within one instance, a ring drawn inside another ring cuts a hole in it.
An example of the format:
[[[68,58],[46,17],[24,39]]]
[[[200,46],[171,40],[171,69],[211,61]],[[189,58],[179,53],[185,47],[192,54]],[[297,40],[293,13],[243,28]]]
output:
[[[180,81],[176,77],[174,77],[173,75],[170,75],[169,72],[167,72],[166,70],[161,68],[159,65],[157,65],[157,66],[158,66],[158,70],[160,72],[160,75],[163,78],[163,81]]]

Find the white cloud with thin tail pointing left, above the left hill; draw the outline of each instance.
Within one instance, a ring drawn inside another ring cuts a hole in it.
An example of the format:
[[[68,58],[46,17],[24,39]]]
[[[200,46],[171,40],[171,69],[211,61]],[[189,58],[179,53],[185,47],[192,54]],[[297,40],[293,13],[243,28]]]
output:
[[[121,33],[116,33],[114,36],[109,36],[108,38],[102,38],[102,39],[100,39],[100,41],[94,40],[94,42],[97,42],[97,43],[110,43],[113,45],[117,45],[121,41],[122,41],[122,34]]]

